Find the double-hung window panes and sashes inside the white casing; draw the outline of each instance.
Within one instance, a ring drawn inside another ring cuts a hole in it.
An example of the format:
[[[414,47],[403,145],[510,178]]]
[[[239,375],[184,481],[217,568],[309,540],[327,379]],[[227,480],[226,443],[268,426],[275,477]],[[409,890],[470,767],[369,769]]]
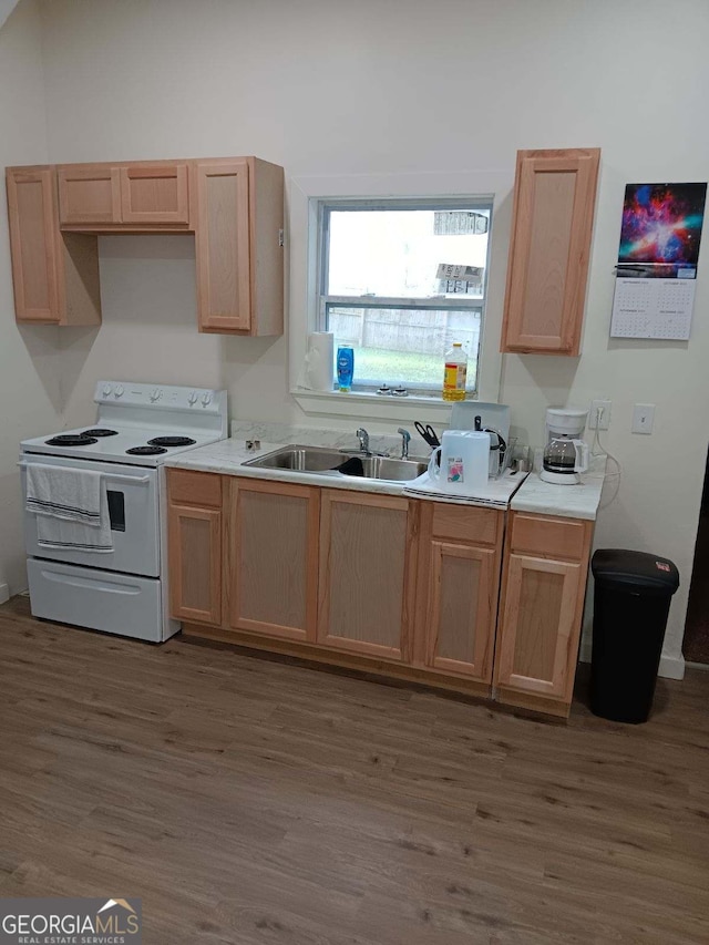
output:
[[[461,341],[477,390],[492,202],[318,203],[318,329],[354,349],[353,390],[440,398],[444,355]]]

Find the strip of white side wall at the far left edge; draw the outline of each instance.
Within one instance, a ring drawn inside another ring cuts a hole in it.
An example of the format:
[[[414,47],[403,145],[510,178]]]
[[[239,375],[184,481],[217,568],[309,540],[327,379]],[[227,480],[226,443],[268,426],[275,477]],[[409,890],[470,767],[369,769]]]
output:
[[[4,16],[6,9],[0,10]],[[41,23],[22,0],[0,28],[0,166],[48,161]],[[14,322],[4,186],[0,196],[0,599],[27,586],[18,443],[60,422],[58,329]]]

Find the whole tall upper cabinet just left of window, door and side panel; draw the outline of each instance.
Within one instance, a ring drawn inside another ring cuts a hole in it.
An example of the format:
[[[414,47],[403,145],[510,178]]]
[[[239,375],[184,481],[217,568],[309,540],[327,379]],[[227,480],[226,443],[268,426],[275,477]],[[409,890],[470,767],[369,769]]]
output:
[[[282,167],[255,157],[196,161],[189,198],[199,330],[281,335]]]

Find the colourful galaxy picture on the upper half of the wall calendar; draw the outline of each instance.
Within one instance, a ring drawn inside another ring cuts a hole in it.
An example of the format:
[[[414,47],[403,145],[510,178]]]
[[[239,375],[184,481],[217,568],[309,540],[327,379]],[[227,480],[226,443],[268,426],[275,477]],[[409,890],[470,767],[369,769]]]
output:
[[[628,184],[623,204],[618,276],[697,276],[707,184]]]

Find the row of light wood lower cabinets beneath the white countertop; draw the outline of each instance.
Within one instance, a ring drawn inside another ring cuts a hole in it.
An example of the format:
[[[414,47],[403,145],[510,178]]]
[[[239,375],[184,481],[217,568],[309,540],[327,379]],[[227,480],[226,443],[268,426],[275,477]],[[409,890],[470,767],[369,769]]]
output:
[[[185,470],[167,484],[187,633],[568,715],[593,522]]]

